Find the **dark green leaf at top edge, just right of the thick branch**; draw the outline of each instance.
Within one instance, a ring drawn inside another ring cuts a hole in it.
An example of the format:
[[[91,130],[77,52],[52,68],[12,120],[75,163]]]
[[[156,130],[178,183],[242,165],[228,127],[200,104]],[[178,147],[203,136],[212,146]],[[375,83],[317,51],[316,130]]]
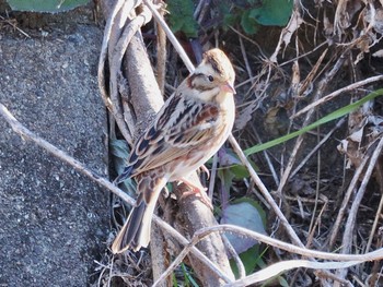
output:
[[[188,38],[197,37],[198,23],[193,16],[193,0],[171,0],[167,2],[167,10],[173,33],[183,32]]]

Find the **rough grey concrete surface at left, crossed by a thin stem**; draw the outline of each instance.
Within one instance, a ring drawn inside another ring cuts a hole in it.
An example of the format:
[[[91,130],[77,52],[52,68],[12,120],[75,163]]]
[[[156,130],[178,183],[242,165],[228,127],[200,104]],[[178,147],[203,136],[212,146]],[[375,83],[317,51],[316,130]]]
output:
[[[106,112],[96,83],[102,31],[69,26],[31,38],[0,26],[0,103],[105,176]],[[108,196],[0,118],[0,286],[94,283],[109,234]]]

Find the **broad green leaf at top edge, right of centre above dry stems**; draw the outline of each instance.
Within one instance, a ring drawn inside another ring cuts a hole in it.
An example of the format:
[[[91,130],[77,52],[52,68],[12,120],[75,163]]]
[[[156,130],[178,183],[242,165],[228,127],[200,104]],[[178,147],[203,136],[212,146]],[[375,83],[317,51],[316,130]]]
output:
[[[264,26],[285,26],[292,8],[292,0],[264,0],[263,5],[252,9],[248,16]]]

